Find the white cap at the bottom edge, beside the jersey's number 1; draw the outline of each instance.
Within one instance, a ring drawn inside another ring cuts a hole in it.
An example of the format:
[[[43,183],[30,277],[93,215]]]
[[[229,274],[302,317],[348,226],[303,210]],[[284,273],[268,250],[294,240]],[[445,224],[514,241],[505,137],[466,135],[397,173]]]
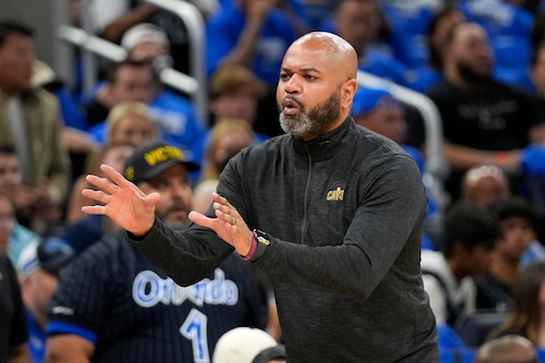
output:
[[[240,327],[223,334],[214,350],[213,363],[252,363],[264,349],[278,342],[262,329]]]

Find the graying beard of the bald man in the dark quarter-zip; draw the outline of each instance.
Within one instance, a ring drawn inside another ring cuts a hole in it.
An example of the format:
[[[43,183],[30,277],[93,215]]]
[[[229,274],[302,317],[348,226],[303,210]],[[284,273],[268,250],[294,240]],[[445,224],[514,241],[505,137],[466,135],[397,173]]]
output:
[[[295,97],[287,96],[284,99],[291,99],[298,104],[300,113],[298,116],[286,116],[280,112],[280,126],[286,133],[291,133],[298,137],[322,133],[340,114],[339,92],[334,93],[331,97],[316,105],[308,112],[306,112],[305,106]]]

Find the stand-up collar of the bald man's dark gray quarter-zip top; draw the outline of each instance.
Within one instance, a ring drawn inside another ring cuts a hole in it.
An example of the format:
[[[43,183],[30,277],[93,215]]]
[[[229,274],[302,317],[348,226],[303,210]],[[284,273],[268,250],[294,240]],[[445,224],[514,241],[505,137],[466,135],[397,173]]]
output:
[[[293,136],[293,148],[296,154],[304,157],[311,154],[314,161],[328,159],[335,155],[335,149],[342,142],[351,125],[355,125],[355,122],[349,117],[339,128],[308,142]]]

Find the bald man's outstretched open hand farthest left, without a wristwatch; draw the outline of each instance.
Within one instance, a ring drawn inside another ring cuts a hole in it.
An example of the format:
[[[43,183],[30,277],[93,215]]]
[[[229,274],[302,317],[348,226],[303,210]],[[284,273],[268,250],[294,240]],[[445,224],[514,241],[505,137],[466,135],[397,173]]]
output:
[[[88,174],[86,180],[98,190],[84,189],[83,196],[98,202],[84,206],[82,211],[89,215],[106,215],[121,228],[142,237],[155,222],[155,204],[158,193],[145,194],[112,167],[101,165],[106,178]]]

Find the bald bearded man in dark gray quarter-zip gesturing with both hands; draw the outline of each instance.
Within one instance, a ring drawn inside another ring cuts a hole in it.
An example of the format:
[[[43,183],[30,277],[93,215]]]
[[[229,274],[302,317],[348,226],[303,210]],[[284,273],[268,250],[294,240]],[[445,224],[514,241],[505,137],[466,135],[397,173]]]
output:
[[[290,363],[438,362],[420,270],[422,178],[399,145],[350,117],[356,68],[336,35],[295,40],[277,88],[286,134],[233,157],[186,230],[157,219],[159,195],[108,166],[87,177],[98,190],[83,193],[98,204],[84,211],[112,218],[182,286],[234,249],[270,277]]]

